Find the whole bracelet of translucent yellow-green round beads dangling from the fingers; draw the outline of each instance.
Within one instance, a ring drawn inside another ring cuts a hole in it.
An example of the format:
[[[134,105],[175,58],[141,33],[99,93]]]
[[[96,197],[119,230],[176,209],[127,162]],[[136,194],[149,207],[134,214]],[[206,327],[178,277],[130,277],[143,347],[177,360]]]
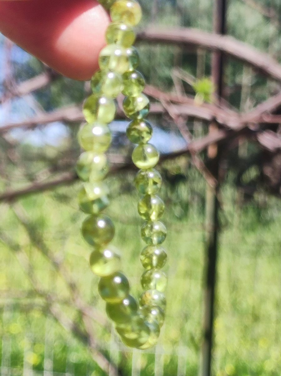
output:
[[[112,23],[106,30],[107,46],[99,55],[100,70],[91,79],[90,95],[83,105],[87,121],[78,132],[80,146],[85,149],[76,165],[80,179],[84,181],[79,193],[80,209],[90,214],[82,224],[83,238],[92,247],[91,270],[101,277],[98,291],[106,301],[106,313],[114,322],[122,342],[137,349],[148,349],[156,344],[160,327],[165,318],[165,291],[167,278],[161,268],[167,255],[160,244],[166,238],[166,227],[159,221],[164,203],[156,196],[162,179],[153,167],[159,160],[159,152],[149,144],[151,124],[144,120],[150,104],[142,94],[145,80],[136,71],[139,55],[132,47],[136,35],[132,29],[141,20],[141,7],[134,0],[100,0],[109,9]],[[127,136],[134,144],[133,163],[140,169],[135,185],[142,198],[137,209],[145,220],[141,237],[147,246],[141,252],[145,268],[141,277],[144,293],[139,304],[130,295],[128,279],[121,273],[118,251],[109,245],[114,236],[112,220],[102,211],[108,206],[108,190],[103,182],[109,167],[106,155],[112,135],[108,127],[115,116],[114,99],[122,92],[125,115],[132,121]]]

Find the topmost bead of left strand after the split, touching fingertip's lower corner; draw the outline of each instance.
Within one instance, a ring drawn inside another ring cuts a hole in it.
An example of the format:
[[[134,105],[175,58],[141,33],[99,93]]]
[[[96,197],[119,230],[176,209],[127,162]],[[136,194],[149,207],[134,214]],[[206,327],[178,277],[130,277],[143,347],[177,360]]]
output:
[[[115,98],[121,93],[122,76],[116,72],[97,71],[91,79],[91,89],[96,95]]]

